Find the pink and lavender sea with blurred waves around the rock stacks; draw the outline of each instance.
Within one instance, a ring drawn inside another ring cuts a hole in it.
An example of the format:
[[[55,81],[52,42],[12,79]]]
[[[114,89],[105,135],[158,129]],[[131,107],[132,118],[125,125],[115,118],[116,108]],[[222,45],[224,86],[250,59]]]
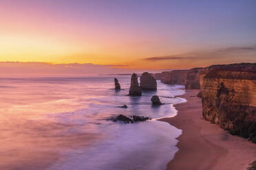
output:
[[[130,77],[0,79],[0,169],[165,169],[181,130],[156,121],[177,113],[183,86],[127,96]],[[152,107],[151,96],[165,103]],[[118,108],[126,104],[127,109]],[[153,118],[142,123],[106,121],[118,114]]]

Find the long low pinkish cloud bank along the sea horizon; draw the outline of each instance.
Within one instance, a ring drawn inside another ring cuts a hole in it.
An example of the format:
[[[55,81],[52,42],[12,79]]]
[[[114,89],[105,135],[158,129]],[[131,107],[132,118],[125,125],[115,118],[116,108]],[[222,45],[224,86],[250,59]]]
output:
[[[126,65],[52,64],[46,62],[0,62],[1,75],[97,75],[103,73],[130,73],[120,69]]]

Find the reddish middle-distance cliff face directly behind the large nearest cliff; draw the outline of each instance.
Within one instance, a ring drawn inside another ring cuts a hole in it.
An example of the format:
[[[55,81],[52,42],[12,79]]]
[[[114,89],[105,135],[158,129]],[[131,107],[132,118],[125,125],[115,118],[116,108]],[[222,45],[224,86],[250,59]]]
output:
[[[204,68],[190,69],[186,75],[186,89],[200,89],[200,75]]]

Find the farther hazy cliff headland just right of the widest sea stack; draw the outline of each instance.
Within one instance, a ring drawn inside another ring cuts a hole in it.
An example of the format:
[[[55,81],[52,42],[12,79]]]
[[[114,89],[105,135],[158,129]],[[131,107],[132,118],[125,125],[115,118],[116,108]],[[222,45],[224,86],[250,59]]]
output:
[[[188,70],[164,71],[161,75],[161,82],[166,84],[186,84]]]

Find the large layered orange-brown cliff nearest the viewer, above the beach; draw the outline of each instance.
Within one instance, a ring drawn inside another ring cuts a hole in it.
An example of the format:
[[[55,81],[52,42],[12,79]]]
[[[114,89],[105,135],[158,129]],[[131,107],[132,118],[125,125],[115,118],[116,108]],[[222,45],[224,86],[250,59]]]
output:
[[[256,63],[210,66],[201,96],[204,119],[256,143]]]

